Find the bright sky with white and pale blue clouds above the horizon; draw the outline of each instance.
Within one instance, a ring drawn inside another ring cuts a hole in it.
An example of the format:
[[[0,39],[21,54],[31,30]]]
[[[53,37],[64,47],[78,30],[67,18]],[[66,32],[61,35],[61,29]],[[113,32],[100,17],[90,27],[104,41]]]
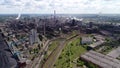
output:
[[[120,14],[120,0],[0,0],[0,14]]]

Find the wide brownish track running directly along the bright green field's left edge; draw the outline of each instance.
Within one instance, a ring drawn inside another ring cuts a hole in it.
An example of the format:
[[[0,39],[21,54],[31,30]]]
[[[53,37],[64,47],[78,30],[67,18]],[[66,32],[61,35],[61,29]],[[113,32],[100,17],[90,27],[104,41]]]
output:
[[[42,68],[53,68],[53,65],[55,64],[56,60],[60,56],[62,50],[64,49],[65,45],[78,37],[79,35],[73,36],[67,40],[64,40],[61,42],[61,44],[51,53],[51,55],[48,57],[47,61],[43,64]]]

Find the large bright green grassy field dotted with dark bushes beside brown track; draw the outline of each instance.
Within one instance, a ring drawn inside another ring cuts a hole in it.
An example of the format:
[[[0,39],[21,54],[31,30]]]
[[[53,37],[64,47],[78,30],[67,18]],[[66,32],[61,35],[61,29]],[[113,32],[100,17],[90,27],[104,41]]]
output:
[[[56,61],[54,68],[74,68],[76,65],[73,61],[85,52],[86,49],[80,45],[79,38],[69,42]]]

